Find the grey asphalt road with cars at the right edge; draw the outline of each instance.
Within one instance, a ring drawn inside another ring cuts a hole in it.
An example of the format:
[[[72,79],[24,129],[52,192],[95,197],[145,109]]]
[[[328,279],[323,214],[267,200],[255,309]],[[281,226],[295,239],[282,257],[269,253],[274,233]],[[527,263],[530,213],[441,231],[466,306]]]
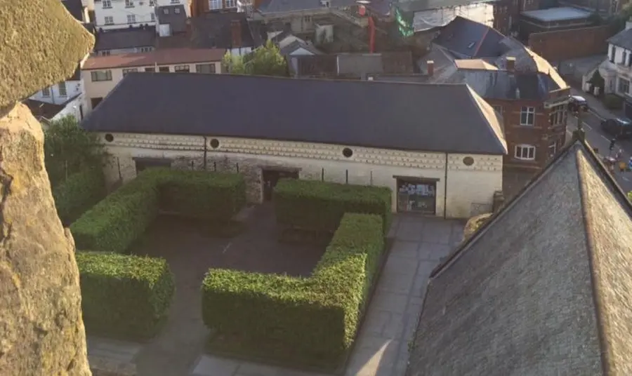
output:
[[[593,113],[587,112],[582,114],[581,122],[584,124],[584,130],[586,130],[586,140],[591,147],[596,147],[599,149],[599,154],[601,156],[607,156],[610,152],[608,147],[610,146],[610,140],[612,140],[612,136],[604,133],[601,129],[601,119],[600,117]],[[572,132],[577,129],[577,118],[574,116],[569,116],[567,123],[567,140],[570,140],[572,136]],[[614,149],[612,150],[612,156],[619,150],[623,150],[623,154],[621,154],[622,161],[628,161],[630,156],[632,156],[632,140],[622,140],[617,141],[614,145]],[[615,166],[614,169],[614,177],[619,182],[621,188],[624,189],[624,192],[632,191],[632,172],[630,173],[620,173],[619,166]]]

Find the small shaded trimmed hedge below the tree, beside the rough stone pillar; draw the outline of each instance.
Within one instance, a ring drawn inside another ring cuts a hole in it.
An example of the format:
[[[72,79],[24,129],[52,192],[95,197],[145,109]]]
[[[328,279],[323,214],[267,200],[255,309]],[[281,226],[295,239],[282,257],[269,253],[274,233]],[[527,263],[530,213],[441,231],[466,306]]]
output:
[[[65,226],[77,220],[105,195],[103,171],[95,169],[74,173],[53,188],[57,214]]]

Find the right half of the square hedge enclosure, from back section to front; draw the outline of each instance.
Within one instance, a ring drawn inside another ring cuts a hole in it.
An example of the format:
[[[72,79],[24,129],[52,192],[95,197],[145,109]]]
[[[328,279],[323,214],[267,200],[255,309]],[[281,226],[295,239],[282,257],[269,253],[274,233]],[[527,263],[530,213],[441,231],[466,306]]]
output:
[[[202,316],[211,351],[317,368],[348,354],[385,249],[390,189],[282,180],[277,221],[335,231],[309,278],[211,269]]]

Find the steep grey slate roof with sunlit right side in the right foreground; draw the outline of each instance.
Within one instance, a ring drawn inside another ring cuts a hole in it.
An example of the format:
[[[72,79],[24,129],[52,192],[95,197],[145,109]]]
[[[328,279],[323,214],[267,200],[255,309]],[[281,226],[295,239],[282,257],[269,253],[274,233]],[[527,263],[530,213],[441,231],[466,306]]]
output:
[[[632,375],[631,215],[573,142],[433,271],[407,376]]]

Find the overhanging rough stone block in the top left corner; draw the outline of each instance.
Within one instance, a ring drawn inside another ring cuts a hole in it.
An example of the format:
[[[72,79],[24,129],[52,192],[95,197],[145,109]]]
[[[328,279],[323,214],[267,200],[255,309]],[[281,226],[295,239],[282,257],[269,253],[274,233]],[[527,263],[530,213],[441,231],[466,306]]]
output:
[[[0,0],[0,108],[72,76],[93,45],[59,0]]]

